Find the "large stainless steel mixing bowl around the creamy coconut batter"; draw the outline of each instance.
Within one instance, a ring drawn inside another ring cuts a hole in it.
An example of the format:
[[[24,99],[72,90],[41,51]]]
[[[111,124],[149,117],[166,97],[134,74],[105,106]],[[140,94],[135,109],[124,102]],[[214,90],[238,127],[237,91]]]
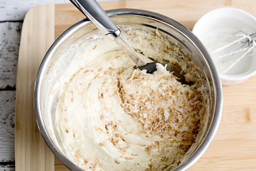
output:
[[[130,25],[132,27],[147,27],[151,30],[158,28],[161,33],[168,36],[170,41],[180,42],[184,47],[184,52],[189,54],[191,60],[195,62],[207,82],[210,96],[210,114],[206,122],[206,129],[199,139],[199,145],[178,167],[173,171],[187,170],[194,164],[210,145],[221,119],[222,113],[222,87],[217,68],[208,53],[206,47],[199,39],[186,27],[180,23],[155,12],[140,9],[114,9],[107,11],[113,22],[118,25]],[[54,155],[71,170],[81,170],[65,153],[59,134],[55,126],[55,108],[57,99],[49,103],[49,96],[53,84],[61,75],[61,70],[65,69],[69,58],[59,59],[65,47],[77,41],[84,35],[97,31],[97,28],[87,19],[83,19],[65,31],[50,47],[46,53],[37,74],[34,90],[34,110],[38,127],[44,140],[52,150]],[[61,60],[56,68],[56,61]],[[52,104],[52,105],[49,105]]]

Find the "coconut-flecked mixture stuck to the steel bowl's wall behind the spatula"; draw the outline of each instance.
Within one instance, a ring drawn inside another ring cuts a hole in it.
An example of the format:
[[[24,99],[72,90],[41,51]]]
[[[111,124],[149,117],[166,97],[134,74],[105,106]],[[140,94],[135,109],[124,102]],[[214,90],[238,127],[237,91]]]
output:
[[[140,49],[145,57],[153,58],[161,64],[173,63],[178,65],[182,73],[185,75],[186,81],[196,81],[195,84],[202,82],[202,77],[196,71],[197,65],[189,59],[189,55],[185,51],[184,46],[179,42],[170,41],[167,36],[163,36],[153,31],[128,30],[127,42],[134,44],[135,49]],[[167,66],[167,70],[171,70]]]

